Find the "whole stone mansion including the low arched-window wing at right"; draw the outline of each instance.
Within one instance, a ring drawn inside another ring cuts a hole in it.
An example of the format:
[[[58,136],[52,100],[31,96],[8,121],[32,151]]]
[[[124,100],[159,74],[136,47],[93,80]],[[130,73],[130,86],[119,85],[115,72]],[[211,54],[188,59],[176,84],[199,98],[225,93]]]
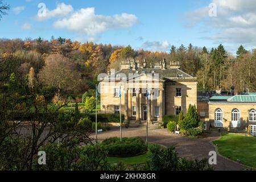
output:
[[[202,95],[197,78],[181,71],[177,61],[123,60],[119,71],[101,77],[100,90],[101,113],[121,110],[128,122],[162,122],[164,115],[178,115],[181,110],[186,114],[191,104],[197,106],[205,130],[224,127],[256,136],[256,93]]]

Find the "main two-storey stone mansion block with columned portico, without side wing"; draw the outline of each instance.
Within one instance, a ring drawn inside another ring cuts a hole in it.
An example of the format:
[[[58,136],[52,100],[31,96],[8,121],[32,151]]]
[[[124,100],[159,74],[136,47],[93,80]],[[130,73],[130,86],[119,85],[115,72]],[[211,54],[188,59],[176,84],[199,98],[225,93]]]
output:
[[[105,112],[102,106],[108,106],[107,113],[119,113],[120,86],[121,112],[126,121],[162,122],[164,115],[176,115],[181,110],[186,113],[189,104],[197,104],[197,78],[179,68],[177,61],[163,60],[150,65],[146,60],[122,61],[120,71],[108,73],[110,79],[101,81],[100,89],[108,88],[108,92],[101,91],[101,113]],[[120,84],[121,76],[128,84]],[[149,90],[148,100],[146,90]]]

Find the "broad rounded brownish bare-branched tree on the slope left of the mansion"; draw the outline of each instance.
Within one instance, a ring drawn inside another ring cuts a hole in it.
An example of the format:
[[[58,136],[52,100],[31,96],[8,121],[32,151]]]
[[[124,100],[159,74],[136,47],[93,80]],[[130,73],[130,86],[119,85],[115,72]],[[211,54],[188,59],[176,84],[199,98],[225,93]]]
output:
[[[78,92],[81,78],[76,64],[63,55],[50,55],[46,66],[39,72],[39,80],[46,86],[54,86],[59,92]]]

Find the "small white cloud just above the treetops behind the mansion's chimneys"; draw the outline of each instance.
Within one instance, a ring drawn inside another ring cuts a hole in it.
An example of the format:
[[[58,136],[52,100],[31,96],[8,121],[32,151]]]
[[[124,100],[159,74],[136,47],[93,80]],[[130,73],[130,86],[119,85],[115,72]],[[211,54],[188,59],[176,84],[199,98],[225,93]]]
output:
[[[150,51],[168,51],[171,47],[171,44],[167,41],[164,40],[162,42],[159,41],[154,41],[154,42],[144,42],[142,44],[142,48],[148,49]]]

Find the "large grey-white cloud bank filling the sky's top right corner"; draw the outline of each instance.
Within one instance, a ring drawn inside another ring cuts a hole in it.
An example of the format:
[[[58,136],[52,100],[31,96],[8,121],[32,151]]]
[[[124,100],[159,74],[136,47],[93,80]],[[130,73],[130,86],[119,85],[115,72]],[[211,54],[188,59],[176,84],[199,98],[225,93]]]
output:
[[[215,43],[243,44],[253,47],[256,44],[256,1],[254,0],[212,0],[216,4],[217,16],[209,17],[208,6],[189,11],[188,24],[204,25],[213,35],[207,39]]]

